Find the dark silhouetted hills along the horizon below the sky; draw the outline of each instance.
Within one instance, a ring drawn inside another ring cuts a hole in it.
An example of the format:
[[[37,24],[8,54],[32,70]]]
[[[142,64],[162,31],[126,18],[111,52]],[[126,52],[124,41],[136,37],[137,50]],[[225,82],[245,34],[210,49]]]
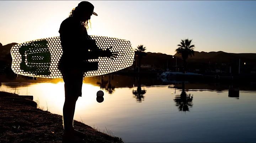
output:
[[[16,45],[17,43],[10,43],[7,45],[2,45],[0,43],[0,60],[3,59],[11,59],[8,55],[10,53],[11,47]],[[147,56],[142,59],[142,64],[150,64],[154,67],[163,68],[167,66],[175,65],[176,58],[173,58],[172,55],[167,55],[163,53],[152,53],[147,52]],[[7,56],[6,56],[7,55]],[[177,65],[182,65],[182,57],[180,55],[175,54],[177,57]],[[241,59],[242,62],[247,63],[256,63],[256,53],[226,53],[223,51],[218,52],[194,52],[193,57],[189,57],[187,62],[189,63],[229,63],[234,59]],[[138,64],[138,62],[137,62]],[[134,61],[134,65],[136,65],[136,60]]]

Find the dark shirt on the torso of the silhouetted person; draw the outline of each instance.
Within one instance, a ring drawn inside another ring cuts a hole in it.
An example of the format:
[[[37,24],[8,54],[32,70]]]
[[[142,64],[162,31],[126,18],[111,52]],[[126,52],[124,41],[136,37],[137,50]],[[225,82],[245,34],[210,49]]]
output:
[[[69,17],[60,24],[59,33],[63,51],[59,69],[78,68],[86,49],[86,44],[83,43],[84,36],[88,35],[86,28],[74,17]]]

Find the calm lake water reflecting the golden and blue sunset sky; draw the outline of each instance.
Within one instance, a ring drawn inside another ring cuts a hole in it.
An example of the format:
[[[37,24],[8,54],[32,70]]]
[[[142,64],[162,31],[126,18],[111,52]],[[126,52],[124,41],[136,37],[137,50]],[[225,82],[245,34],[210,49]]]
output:
[[[125,142],[256,142],[255,86],[233,85],[239,97],[229,97],[232,85],[185,83],[190,98],[179,99],[182,84],[164,81],[117,75],[86,78],[75,120],[102,132],[111,129]],[[1,82],[1,91],[32,95],[40,107],[62,115],[62,79]],[[99,90],[105,93],[101,103],[96,101]]]

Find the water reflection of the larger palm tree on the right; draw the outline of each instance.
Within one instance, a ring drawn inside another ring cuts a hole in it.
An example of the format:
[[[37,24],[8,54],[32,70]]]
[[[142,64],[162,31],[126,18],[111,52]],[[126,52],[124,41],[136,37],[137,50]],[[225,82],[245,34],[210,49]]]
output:
[[[185,83],[182,82],[182,92],[180,95],[176,95],[174,98],[175,105],[179,108],[179,111],[189,111],[189,107],[193,106],[193,95],[188,94],[185,92]]]

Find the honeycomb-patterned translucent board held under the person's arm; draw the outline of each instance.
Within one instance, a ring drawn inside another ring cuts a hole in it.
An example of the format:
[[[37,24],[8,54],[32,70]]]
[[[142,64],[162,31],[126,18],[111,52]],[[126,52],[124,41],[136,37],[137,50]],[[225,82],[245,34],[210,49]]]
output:
[[[89,59],[89,62],[98,62],[98,70],[87,71],[85,77],[112,73],[133,64],[134,50],[130,41],[105,36],[86,36],[86,39],[95,40],[100,49],[111,48],[110,51],[117,52],[117,56],[113,59],[108,57]],[[60,37],[17,44],[12,46],[10,52],[11,68],[14,73],[40,78],[62,78],[57,67],[62,56]]]

